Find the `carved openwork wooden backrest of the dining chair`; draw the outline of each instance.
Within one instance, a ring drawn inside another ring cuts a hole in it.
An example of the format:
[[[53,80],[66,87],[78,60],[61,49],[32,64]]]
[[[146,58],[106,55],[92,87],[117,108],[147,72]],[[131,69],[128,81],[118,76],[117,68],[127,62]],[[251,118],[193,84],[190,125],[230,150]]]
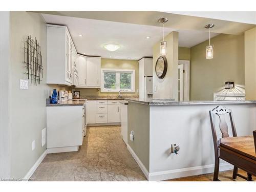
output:
[[[231,123],[231,129],[232,129],[232,135],[233,137],[237,137],[237,132],[236,132],[236,127],[234,126],[234,121],[233,121],[233,116],[231,110],[224,108],[223,106],[219,105],[213,110],[209,111],[210,115],[210,125],[211,125],[211,133],[212,133],[212,139],[214,140],[214,150],[215,150],[215,155],[218,154],[218,147],[219,147],[219,142],[217,139],[217,134],[216,134],[216,129],[215,129],[215,123],[213,120],[213,116],[217,115],[219,117],[219,129],[222,134],[222,138],[224,137],[229,137],[228,135],[228,125],[225,120],[225,116],[229,115],[230,118],[230,123]]]

